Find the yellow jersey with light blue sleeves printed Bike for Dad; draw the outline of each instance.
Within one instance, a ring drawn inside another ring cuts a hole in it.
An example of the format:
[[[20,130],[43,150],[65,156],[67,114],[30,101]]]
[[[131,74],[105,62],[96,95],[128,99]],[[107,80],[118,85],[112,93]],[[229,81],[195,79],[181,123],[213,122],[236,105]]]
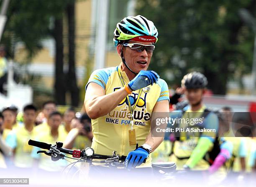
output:
[[[123,87],[118,75],[119,67],[110,67],[96,70],[90,76],[87,85],[95,82],[100,85],[105,94],[110,94]],[[120,70],[125,84],[129,79],[125,72]],[[87,88],[86,85],[86,88]],[[156,84],[149,85],[142,89],[138,104],[134,109],[133,129],[136,130],[136,142],[141,146],[148,136],[151,127],[151,115],[156,102],[169,100],[169,90],[166,82],[159,79]],[[133,91],[129,95],[131,106],[133,107],[138,99],[139,90]],[[128,130],[130,127],[131,112],[128,100],[125,97],[120,104],[109,114],[92,120],[92,148],[95,153],[102,155],[112,155],[116,151],[119,155],[127,156],[130,151],[136,149],[136,145],[129,144]],[[151,163],[151,155],[147,159],[147,164]]]

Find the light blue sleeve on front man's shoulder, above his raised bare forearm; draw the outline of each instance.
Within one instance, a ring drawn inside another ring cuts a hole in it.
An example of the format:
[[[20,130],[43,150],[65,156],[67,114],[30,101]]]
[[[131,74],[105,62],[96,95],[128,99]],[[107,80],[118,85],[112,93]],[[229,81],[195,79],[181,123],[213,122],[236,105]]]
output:
[[[103,89],[105,89],[106,84],[108,82],[109,73],[106,69],[95,70],[92,72],[87,85],[85,86],[85,90],[90,82],[95,82],[100,85]]]

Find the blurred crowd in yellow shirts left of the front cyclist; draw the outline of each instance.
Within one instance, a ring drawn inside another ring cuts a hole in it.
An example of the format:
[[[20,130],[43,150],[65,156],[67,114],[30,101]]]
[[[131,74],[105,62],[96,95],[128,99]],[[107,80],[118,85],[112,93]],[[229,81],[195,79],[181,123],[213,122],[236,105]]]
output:
[[[55,102],[48,101],[39,112],[34,105],[26,105],[22,112],[12,105],[0,113],[0,168],[41,172],[59,172],[66,160],[51,161],[51,157],[37,154],[37,147],[28,140],[55,144],[63,142],[67,149],[84,149],[92,144],[92,128],[88,115],[73,108],[62,115]]]

